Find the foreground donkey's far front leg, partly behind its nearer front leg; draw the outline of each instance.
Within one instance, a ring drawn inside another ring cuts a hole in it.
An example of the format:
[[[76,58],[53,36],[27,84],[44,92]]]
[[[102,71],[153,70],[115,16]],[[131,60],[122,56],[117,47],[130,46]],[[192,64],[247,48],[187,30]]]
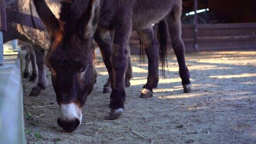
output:
[[[94,40],[100,47],[100,53],[103,58],[104,64],[108,69],[108,81],[104,84],[103,93],[111,93],[113,84],[113,71],[110,57],[112,54],[112,40],[113,32],[104,28],[98,28],[95,32]]]

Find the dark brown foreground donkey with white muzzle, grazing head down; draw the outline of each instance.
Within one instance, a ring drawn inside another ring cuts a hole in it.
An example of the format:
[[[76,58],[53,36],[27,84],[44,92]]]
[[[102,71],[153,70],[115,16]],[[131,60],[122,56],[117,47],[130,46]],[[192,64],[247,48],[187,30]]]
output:
[[[65,130],[73,131],[80,125],[82,106],[93,88],[90,49],[93,37],[100,46],[112,86],[109,105],[112,110],[105,119],[117,119],[124,111],[126,54],[132,28],[137,30],[148,56],[148,82],[143,86],[141,97],[152,96],[152,89],[157,87],[159,80],[159,53],[162,65],[165,63],[168,28],[161,21],[165,17],[180,66],[184,92],[191,91],[181,39],[182,0],[67,0],[70,3],[62,3],[60,20],[44,0],[33,1],[51,36],[46,64],[52,71],[52,83],[60,105],[58,124]],[[152,24],[158,22],[162,39],[160,52],[152,30]]]

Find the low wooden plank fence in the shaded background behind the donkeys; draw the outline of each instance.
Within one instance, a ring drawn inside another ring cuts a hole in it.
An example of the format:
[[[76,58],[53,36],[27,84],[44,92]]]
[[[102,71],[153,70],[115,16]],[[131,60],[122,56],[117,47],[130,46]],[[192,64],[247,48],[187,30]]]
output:
[[[194,25],[182,26],[182,38],[187,52],[195,52],[195,44],[199,52],[256,50],[256,23],[200,24],[197,26],[196,39],[194,28]],[[139,54],[140,41],[136,31],[132,32],[130,45],[132,54]]]

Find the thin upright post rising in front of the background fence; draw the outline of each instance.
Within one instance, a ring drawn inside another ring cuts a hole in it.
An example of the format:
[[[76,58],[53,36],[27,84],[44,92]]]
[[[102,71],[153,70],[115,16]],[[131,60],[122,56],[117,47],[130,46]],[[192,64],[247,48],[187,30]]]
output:
[[[194,49],[195,52],[198,50],[198,16],[197,16],[197,9],[198,9],[198,0],[194,0],[194,11],[195,11],[195,15],[194,15]]]

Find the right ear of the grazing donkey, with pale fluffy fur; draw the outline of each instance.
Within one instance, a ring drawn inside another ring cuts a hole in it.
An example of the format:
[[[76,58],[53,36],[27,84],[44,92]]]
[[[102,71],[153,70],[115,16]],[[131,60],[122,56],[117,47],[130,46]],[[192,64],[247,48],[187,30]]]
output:
[[[77,21],[84,38],[92,37],[100,21],[100,0],[89,0],[87,8]]]

